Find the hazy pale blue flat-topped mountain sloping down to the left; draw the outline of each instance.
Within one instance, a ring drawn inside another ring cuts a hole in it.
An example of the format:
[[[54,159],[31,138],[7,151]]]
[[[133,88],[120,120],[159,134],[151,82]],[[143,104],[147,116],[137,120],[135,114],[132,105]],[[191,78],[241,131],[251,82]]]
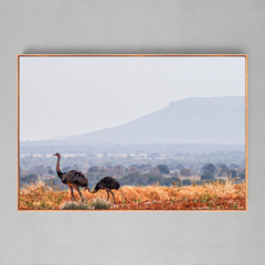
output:
[[[190,97],[128,124],[65,139],[86,144],[244,144],[245,97]]]

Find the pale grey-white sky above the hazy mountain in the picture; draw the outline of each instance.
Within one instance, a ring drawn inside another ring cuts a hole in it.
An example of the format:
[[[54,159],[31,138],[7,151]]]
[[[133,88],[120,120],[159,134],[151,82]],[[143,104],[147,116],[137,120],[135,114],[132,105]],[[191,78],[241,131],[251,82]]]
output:
[[[20,57],[20,139],[127,124],[186,97],[245,96],[245,57]]]

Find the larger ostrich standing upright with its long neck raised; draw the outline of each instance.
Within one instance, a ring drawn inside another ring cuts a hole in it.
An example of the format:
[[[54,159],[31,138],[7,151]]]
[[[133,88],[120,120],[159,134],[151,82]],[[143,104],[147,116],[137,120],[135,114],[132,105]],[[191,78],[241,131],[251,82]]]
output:
[[[71,170],[68,172],[63,173],[60,169],[61,155],[56,152],[53,156],[57,157],[57,165],[56,165],[57,177],[62,180],[64,184],[68,186],[71,190],[72,201],[74,200],[73,189],[75,189],[80,193],[81,198],[82,198],[82,193],[80,191],[80,187],[84,187],[85,191],[88,190],[91,192],[88,187],[88,180],[84,173],[82,173],[78,170]]]

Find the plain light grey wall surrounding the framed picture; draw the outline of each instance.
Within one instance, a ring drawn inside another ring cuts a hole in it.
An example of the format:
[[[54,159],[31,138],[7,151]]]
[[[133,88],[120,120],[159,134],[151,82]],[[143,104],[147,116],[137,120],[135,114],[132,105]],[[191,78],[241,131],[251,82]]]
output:
[[[264,264],[265,2],[2,0],[1,264]],[[17,54],[247,53],[248,212],[17,212]]]

